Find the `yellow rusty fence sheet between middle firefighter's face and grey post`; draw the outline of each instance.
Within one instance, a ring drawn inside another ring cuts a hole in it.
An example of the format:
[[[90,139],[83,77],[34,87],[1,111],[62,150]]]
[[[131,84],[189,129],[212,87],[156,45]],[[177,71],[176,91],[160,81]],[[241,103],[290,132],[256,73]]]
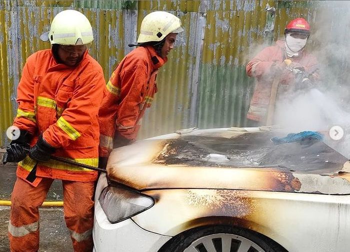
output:
[[[149,10],[138,10],[138,24]],[[173,13],[176,15],[176,13]],[[177,13],[184,32],[177,35],[175,49],[168,55],[167,63],[157,75],[158,92],[142,119],[139,138],[155,136],[186,128],[190,124],[191,99],[196,96],[193,83],[197,80],[200,57],[200,36],[196,26],[200,14]]]

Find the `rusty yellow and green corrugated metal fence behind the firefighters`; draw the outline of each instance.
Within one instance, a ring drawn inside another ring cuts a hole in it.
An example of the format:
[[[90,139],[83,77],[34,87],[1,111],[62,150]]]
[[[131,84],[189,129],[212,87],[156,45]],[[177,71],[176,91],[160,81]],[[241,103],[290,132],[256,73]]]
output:
[[[25,59],[49,48],[39,40],[54,15],[82,12],[94,32],[90,54],[105,79],[136,40],[151,11],[178,16],[184,32],[158,74],[158,93],[143,118],[140,138],[176,129],[242,126],[253,89],[245,64],[265,43],[267,1],[1,1],[0,2],[0,146],[15,115],[16,87]],[[276,7],[273,40],[285,24],[303,16],[314,24],[318,4],[269,1]],[[260,46],[259,46],[260,45]]]

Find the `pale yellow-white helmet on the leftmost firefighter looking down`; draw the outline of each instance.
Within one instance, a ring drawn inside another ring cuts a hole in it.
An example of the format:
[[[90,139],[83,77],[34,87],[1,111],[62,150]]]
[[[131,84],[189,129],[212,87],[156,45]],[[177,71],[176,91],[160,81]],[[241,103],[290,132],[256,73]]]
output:
[[[50,31],[42,34],[40,39],[49,40],[51,45],[86,45],[93,40],[92,27],[82,13],[66,10],[53,18]]]

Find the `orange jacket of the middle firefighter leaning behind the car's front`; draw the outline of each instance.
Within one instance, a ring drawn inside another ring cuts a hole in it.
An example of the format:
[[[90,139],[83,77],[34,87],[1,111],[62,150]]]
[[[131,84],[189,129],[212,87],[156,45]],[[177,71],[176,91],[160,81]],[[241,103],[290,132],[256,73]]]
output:
[[[136,138],[138,122],[157,92],[156,74],[166,61],[152,46],[140,46],[127,54],[114,69],[98,113],[101,157],[109,155],[113,141]]]

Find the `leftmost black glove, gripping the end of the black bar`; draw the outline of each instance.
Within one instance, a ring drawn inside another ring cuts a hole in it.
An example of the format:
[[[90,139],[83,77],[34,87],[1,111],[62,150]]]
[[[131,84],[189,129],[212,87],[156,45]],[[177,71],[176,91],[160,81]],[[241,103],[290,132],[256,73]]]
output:
[[[26,130],[19,130],[19,137],[12,140],[6,147],[6,152],[2,156],[2,164],[7,162],[19,162],[22,161],[29,151],[29,144],[31,136]]]

